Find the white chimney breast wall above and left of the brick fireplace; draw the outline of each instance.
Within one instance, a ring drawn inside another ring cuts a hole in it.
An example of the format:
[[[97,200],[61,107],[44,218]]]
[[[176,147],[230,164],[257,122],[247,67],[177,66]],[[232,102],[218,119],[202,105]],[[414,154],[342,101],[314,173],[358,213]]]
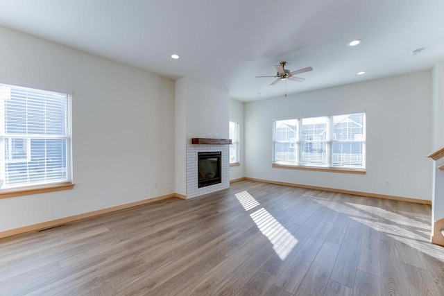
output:
[[[176,80],[176,193],[187,192],[185,150],[191,138],[228,139],[228,99],[228,92],[198,80]]]

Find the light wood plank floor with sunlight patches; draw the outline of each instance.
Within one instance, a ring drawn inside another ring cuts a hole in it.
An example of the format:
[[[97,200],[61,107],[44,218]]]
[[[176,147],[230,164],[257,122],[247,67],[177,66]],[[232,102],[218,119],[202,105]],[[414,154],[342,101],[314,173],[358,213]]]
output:
[[[444,295],[430,207],[258,182],[0,240],[0,295]]]

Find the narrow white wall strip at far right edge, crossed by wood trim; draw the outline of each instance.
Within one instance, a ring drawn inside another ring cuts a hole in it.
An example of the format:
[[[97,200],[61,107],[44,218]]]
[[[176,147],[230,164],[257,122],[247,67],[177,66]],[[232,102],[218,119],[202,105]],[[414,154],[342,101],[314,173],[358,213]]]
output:
[[[444,147],[444,61],[435,65],[432,70],[432,151]],[[434,162],[430,169],[433,175],[432,182],[432,220],[444,218],[444,171],[437,169],[444,164],[444,158]]]

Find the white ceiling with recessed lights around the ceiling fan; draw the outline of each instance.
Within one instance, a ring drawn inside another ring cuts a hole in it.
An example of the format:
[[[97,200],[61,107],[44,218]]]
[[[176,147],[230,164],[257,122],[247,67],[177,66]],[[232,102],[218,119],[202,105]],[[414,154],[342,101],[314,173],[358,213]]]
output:
[[[168,78],[189,76],[240,101],[444,60],[443,0],[0,0],[0,25]],[[357,38],[364,42],[347,46]],[[273,86],[274,78],[255,78],[275,75],[283,60],[291,71],[314,71]]]

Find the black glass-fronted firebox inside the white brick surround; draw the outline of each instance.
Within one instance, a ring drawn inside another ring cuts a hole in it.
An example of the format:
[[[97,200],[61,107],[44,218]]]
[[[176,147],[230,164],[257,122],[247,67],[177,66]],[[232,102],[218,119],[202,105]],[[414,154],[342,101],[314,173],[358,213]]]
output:
[[[221,151],[198,153],[198,188],[222,183]]]

